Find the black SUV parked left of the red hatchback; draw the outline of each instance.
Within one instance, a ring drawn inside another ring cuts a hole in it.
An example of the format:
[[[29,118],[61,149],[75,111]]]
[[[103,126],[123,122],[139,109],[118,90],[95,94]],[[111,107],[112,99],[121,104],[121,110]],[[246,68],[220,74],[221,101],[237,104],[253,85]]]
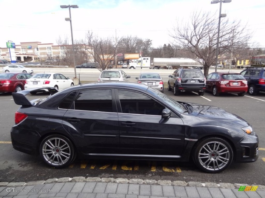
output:
[[[184,91],[196,91],[203,96],[206,88],[206,78],[200,69],[177,69],[168,81],[168,91],[173,89],[174,95]]]

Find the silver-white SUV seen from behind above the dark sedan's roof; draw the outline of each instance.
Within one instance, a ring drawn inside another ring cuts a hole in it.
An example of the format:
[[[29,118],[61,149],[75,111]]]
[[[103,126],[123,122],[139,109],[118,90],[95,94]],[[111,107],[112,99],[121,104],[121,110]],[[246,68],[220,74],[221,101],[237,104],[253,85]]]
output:
[[[128,81],[130,76],[127,76],[122,70],[103,70],[98,81]]]

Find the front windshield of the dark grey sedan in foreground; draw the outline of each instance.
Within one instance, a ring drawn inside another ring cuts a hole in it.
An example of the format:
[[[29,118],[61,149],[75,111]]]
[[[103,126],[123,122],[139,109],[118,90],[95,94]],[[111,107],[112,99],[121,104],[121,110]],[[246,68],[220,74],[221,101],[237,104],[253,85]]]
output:
[[[187,109],[180,104],[179,102],[173,100],[172,98],[168,97],[164,93],[161,93],[160,91],[157,91],[156,89],[149,87],[147,89],[148,92],[152,93],[153,95],[157,96],[161,100],[163,100],[168,106],[170,106],[172,109],[175,109],[178,112],[186,111]]]

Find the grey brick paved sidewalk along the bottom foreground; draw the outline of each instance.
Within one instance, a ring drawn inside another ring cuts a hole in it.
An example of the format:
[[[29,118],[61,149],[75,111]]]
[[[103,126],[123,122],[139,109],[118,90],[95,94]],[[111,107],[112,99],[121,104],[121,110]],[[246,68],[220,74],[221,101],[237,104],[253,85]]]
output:
[[[214,187],[163,186],[107,182],[59,182],[38,185],[30,185],[29,182],[21,184],[23,186],[18,185],[19,184],[17,184],[17,186],[10,185],[0,187],[0,198],[265,197],[265,191],[263,190],[245,192],[238,191],[238,189]]]

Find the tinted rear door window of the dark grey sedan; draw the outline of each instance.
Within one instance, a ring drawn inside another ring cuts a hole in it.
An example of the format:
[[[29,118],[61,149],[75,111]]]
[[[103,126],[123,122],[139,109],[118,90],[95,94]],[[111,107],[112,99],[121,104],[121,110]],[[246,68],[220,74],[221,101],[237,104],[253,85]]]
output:
[[[84,90],[74,101],[76,110],[113,112],[111,89]]]

